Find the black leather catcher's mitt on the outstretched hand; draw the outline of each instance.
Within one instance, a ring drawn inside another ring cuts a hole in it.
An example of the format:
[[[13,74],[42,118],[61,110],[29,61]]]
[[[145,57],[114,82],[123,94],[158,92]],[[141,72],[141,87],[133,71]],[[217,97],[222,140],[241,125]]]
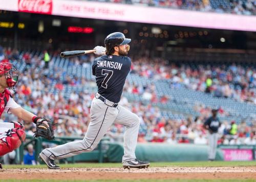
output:
[[[43,121],[47,121],[49,127],[42,123]],[[52,127],[52,123],[50,120],[46,119],[46,118],[39,118],[36,122],[36,131],[35,131],[35,137],[43,137],[46,138],[48,140],[53,140],[54,136],[53,136],[53,127]]]

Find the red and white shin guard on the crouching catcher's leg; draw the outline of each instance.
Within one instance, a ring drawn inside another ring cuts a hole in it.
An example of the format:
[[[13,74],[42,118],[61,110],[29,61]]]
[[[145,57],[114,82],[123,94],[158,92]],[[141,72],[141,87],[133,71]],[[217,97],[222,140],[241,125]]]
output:
[[[0,156],[18,148],[26,138],[24,128],[13,128],[0,135]]]

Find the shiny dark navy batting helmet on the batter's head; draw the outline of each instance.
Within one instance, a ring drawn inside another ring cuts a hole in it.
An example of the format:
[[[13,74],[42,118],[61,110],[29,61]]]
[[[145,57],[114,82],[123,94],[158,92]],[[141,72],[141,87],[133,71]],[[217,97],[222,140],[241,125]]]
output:
[[[118,45],[125,45],[131,42],[131,39],[126,39],[121,32],[112,33],[105,38],[106,54],[112,54],[114,47]]]

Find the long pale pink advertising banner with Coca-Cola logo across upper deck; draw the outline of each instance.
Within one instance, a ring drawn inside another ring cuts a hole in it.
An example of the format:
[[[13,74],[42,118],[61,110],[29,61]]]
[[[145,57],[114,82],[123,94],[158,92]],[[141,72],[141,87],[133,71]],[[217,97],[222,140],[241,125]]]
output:
[[[209,13],[78,0],[0,1],[1,10],[256,32],[256,16]],[[239,23],[238,23],[239,22]]]

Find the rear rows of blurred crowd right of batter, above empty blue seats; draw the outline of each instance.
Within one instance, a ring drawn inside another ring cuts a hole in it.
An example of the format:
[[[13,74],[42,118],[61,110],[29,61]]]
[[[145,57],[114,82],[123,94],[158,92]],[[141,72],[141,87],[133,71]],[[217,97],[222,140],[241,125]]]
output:
[[[212,93],[216,97],[230,97],[256,104],[256,70],[241,65],[168,65],[166,60],[139,58],[133,61],[131,73],[149,79],[167,79],[170,87],[184,84],[187,88]],[[141,89],[139,89],[141,90]],[[132,90],[134,94],[138,89]],[[151,91],[154,94],[154,92]]]

